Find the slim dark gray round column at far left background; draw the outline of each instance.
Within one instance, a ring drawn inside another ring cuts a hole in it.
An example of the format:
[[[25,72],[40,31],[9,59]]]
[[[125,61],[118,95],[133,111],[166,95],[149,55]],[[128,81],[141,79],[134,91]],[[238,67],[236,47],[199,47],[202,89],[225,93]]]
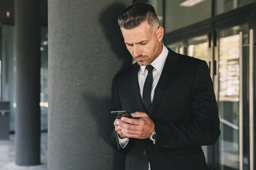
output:
[[[15,0],[16,164],[40,163],[40,5]]]

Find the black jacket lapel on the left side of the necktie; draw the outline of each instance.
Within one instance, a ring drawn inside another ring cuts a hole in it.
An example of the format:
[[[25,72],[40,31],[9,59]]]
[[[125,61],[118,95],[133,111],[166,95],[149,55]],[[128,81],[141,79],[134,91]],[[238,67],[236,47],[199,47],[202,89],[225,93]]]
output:
[[[134,95],[135,101],[140,108],[140,111],[145,112],[146,110],[142,103],[142,99],[141,99],[140,92],[139,92],[138,71],[139,71],[140,66],[138,64],[134,64],[133,67],[134,68],[131,69],[131,73],[130,73],[130,77],[129,77],[130,87],[132,90],[132,94]]]

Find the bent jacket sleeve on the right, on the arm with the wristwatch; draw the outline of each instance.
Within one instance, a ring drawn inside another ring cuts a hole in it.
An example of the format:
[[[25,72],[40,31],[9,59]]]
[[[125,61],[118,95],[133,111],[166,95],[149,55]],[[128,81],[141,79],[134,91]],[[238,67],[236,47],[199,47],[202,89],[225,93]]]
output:
[[[200,61],[191,87],[189,121],[156,121],[156,146],[166,149],[213,145],[220,135],[220,120],[209,67]]]

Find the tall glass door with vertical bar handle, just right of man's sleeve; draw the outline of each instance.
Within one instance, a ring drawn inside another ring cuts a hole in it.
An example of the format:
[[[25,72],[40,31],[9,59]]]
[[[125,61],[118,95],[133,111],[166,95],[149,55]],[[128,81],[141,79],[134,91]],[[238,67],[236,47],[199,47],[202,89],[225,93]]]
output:
[[[249,33],[248,25],[218,31],[218,108],[220,138],[219,169],[243,170],[248,167],[249,126],[247,80]]]

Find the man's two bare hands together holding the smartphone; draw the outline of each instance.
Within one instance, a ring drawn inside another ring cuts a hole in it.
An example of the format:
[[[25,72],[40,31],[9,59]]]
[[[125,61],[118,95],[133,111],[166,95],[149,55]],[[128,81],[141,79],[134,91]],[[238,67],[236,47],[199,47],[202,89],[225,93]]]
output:
[[[140,117],[140,119],[122,117],[121,120],[115,120],[115,130],[117,131],[119,137],[131,137],[137,139],[148,138],[150,133],[155,129],[154,122],[146,113],[135,112],[131,115],[132,117]]]

